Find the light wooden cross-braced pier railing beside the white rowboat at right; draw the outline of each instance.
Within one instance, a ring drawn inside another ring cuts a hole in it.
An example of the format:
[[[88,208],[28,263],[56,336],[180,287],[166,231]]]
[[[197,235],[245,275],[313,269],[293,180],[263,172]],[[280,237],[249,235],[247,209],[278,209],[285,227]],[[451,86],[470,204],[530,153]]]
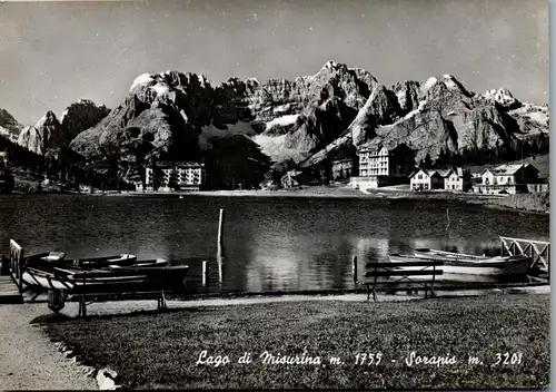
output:
[[[525,254],[533,257],[532,270],[538,270],[550,276],[550,243],[546,241],[500,237],[500,255],[514,256]]]

